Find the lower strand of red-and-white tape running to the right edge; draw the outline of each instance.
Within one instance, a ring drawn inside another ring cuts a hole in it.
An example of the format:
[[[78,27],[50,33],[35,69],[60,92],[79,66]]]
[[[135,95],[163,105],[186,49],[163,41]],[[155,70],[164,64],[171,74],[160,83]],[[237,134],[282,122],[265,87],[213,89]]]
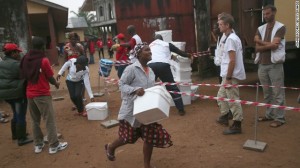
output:
[[[174,93],[174,94],[181,94],[183,96],[195,96],[195,97],[199,97],[201,99],[219,100],[219,101],[226,101],[226,102],[229,102],[229,103],[241,103],[241,104],[244,104],[244,105],[269,107],[269,108],[277,108],[277,109],[282,109],[282,110],[292,110],[292,111],[299,111],[300,112],[300,108],[296,108],[296,107],[280,106],[280,105],[252,102],[252,101],[246,101],[246,100],[234,100],[234,99],[227,99],[227,98],[222,98],[222,97],[199,95],[199,94],[194,94],[194,93],[174,92],[174,91],[169,91],[169,92]]]

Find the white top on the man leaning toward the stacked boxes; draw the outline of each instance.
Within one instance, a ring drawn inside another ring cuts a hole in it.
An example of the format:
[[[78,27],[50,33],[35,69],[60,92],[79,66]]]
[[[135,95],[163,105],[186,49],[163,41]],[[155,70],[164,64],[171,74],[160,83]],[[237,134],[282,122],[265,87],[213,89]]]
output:
[[[170,64],[171,51],[169,43],[157,39],[149,44],[149,47],[152,52],[152,60],[149,63],[163,62]]]

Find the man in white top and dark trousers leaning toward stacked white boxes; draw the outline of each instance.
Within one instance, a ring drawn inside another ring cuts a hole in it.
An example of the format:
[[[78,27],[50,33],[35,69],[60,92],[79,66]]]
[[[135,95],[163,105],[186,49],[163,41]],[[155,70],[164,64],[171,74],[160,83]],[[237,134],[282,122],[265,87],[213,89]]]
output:
[[[162,82],[175,83],[170,66],[171,52],[188,58],[191,58],[191,54],[181,51],[172,43],[164,42],[160,34],[155,35],[155,40],[149,47],[152,52],[152,60],[149,62],[149,67],[153,70],[156,79],[159,78]],[[166,89],[168,91],[180,92],[176,85],[168,85],[166,86]],[[179,115],[184,115],[185,111],[181,95],[171,93],[171,96],[178,109]]]

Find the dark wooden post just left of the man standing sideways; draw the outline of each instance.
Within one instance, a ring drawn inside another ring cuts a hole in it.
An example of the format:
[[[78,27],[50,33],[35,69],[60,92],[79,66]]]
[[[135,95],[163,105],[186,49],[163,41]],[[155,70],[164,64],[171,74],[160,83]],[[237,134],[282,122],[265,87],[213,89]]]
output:
[[[196,12],[197,49],[206,51],[210,46],[210,0],[194,0]],[[198,58],[200,77],[209,71],[209,57]]]

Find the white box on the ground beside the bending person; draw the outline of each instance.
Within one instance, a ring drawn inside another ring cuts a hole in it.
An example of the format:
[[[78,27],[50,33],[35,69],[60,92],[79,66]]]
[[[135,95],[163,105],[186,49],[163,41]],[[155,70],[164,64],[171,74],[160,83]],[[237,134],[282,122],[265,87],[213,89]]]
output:
[[[88,120],[105,120],[108,116],[107,102],[92,102],[85,109]]]

